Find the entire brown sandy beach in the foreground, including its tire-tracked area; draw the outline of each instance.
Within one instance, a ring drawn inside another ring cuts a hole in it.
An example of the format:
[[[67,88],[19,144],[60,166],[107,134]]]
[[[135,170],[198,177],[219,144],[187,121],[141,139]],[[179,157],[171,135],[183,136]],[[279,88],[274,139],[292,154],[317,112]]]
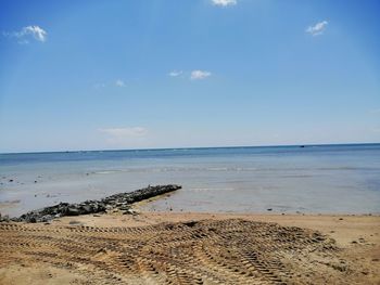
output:
[[[380,283],[379,216],[114,212],[0,238],[0,284]]]

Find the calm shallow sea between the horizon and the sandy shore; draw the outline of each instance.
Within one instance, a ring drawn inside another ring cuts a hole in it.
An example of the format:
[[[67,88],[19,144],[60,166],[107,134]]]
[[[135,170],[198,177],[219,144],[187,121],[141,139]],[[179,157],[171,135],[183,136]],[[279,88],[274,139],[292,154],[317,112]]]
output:
[[[147,210],[380,212],[380,144],[0,154],[0,212],[182,185]]]

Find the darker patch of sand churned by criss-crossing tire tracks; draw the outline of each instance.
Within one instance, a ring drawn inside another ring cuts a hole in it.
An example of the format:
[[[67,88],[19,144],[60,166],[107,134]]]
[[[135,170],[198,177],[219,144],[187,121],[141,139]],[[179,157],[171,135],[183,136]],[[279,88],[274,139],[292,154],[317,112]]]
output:
[[[322,284],[346,277],[313,262],[339,262],[327,236],[240,219],[141,228],[0,223],[0,237],[1,267],[46,262],[91,284]]]

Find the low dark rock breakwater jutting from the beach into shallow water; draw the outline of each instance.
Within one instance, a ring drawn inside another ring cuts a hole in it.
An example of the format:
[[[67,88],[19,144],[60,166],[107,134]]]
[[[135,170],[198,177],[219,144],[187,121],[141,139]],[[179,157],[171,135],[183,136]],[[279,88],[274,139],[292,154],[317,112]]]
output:
[[[181,189],[180,185],[156,185],[148,186],[129,193],[115,194],[100,200],[86,200],[83,203],[60,203],[39,210],[33,210],[10,220],[17,222],[48,222],[54,218],[64,216],[79,216],[88,213],[105,212],[109,210],[122,210],[128,212],[130,206],[143,199],[159,196]],[[1,216],[0,216],[1,219]]]

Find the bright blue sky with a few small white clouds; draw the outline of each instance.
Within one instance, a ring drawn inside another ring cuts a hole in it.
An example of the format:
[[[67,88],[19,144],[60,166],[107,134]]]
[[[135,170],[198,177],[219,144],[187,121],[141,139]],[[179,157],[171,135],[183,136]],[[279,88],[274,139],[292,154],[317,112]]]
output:
[[[0,1],[0,153],[380,142],[380,1]]]

